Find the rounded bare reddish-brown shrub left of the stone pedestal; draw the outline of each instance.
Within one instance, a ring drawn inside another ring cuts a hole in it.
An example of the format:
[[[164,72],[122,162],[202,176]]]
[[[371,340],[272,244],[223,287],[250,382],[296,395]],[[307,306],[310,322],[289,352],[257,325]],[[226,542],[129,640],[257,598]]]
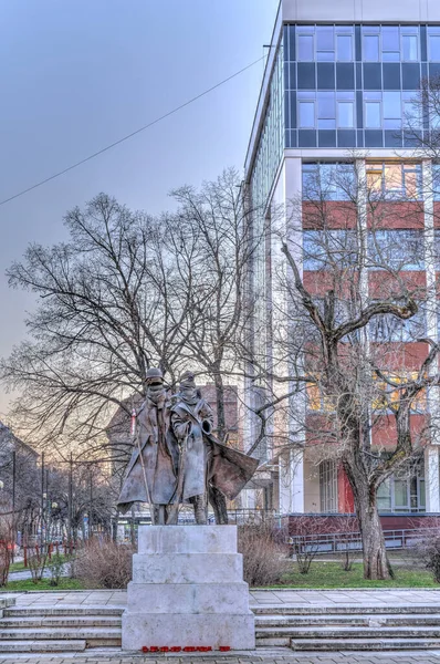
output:
[[[76,554],[75,575],[85,588],[126,588],[134,549],[111,539],[91,539]]]

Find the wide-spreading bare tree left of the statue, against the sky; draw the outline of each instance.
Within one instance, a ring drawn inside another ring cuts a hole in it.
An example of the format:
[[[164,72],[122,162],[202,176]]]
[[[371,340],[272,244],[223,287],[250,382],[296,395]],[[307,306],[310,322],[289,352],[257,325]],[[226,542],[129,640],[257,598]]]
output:
[[[190,261],[193,245],[176,227],[171,243],[166,217],[132,212],[104,194],[64,222],[65,243],[32,245],[8,271],[40,304],[27,321],[30,340],[2,361],[0,376],[20,394],[13,415],[23,435],[51,449],[86,442],[90,453],[102,450],[112,411],[144,394],[151,364],[175,380],[189,293],[169,247]]]

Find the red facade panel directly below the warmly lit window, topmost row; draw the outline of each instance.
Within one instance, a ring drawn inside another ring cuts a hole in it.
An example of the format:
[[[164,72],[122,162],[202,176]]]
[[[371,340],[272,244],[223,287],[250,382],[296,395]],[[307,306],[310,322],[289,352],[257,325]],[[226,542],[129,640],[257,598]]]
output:
[[[368,205],[368,228],[413,228],[425,226],[423,204],[418,200],[371,203]]]

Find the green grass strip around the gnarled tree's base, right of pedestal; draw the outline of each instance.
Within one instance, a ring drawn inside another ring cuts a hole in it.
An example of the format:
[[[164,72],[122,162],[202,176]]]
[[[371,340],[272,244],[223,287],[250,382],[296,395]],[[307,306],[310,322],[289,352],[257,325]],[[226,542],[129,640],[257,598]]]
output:
[[[389,581],[364,579],[364,568],[359,562],[345,572],[338,562],[312,562],[308,574],[300,574],[295,563],[276,588],[440,588],[432,574],[422,569],[394,566],[396,578]],[[274,587],[272,587],[274,588]]]

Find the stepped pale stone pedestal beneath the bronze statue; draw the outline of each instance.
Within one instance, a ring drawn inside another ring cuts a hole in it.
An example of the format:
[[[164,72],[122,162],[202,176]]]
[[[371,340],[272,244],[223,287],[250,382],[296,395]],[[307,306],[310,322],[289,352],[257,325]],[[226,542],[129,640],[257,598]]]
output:
[[[140,526],[123,649],[255,647],[235,526]]]

